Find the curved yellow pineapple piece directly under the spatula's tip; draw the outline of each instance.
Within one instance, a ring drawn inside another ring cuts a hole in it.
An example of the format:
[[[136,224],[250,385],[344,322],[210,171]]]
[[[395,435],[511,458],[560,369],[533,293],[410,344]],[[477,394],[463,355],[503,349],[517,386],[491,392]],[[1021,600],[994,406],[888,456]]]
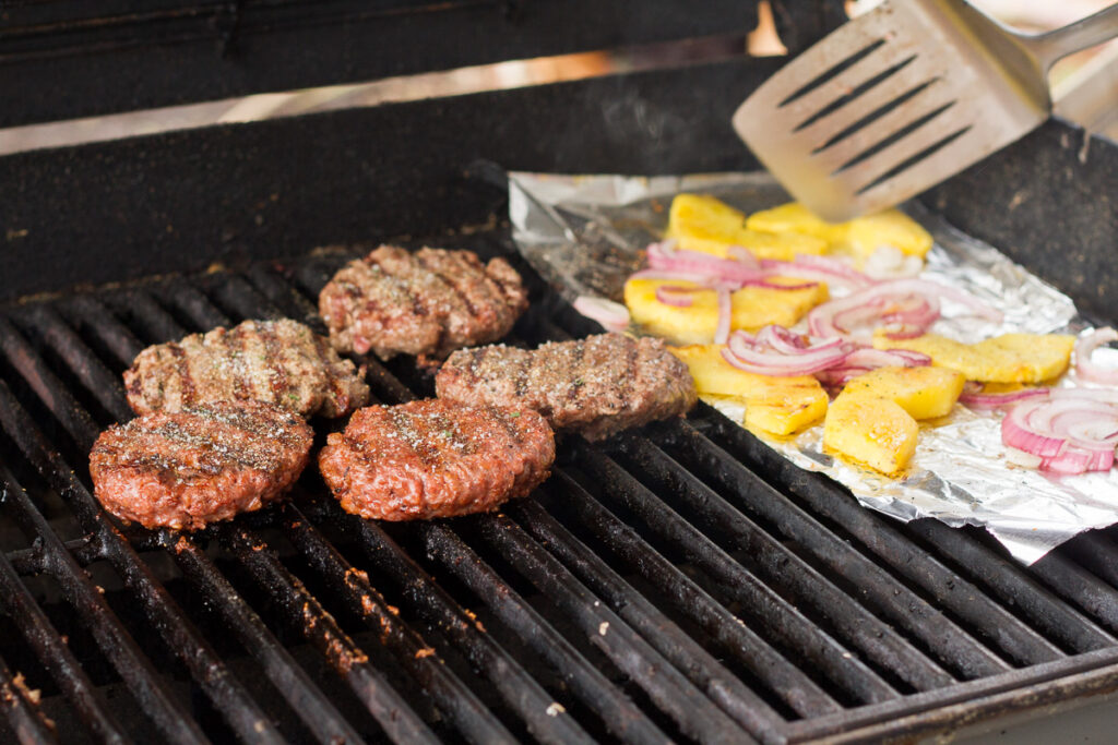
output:
[[[899,210],[885,210],[832,225],[815,217],[803,204],[789,202],[750,214],[746,227],[814,236],[827,241],[831,251],[852,254],[863,260],[881,246],[893,246],[907,256],[923,258],[932,242],[927,230]]]

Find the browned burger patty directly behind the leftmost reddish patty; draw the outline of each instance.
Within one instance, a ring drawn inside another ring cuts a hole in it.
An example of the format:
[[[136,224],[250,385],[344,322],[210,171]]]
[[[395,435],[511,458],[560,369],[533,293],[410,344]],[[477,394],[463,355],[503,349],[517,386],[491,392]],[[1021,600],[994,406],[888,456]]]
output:
[[[364,371],[301,323],[246,321],[157,344],[124,373],[136,413],[210,401],[263,401],[305,417],[341,417],[369,401]]]

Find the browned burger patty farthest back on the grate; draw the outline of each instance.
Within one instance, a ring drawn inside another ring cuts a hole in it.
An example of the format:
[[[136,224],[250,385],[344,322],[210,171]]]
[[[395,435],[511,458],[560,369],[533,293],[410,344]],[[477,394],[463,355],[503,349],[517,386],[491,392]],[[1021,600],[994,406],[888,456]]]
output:
[[[319,295],[330,341],[342,352],[372,350],[445,357],[493,342],[528,307],[520,275],[508,261],[482,265],[472,251],[381,246],[350,261]]]

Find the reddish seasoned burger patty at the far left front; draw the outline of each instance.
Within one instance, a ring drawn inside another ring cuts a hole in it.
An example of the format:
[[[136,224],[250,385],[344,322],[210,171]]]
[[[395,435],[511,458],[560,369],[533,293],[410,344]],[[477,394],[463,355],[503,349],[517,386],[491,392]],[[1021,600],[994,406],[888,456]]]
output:
[[[117,517],[193,529],[286,491],[313,439],[299,414],[255,401],[158,411],[102,432],[89,475]]]

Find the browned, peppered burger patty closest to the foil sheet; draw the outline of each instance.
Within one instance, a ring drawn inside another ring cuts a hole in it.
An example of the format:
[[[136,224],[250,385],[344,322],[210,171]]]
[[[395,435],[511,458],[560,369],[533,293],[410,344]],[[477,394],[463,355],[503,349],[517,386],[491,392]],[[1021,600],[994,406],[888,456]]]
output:
[[[438,398],[527,407],[556,429],[599,440],[682,416],[695,404],[688,366],[656,338],[600,334],[538,350],[459,350],[438,371]]]

